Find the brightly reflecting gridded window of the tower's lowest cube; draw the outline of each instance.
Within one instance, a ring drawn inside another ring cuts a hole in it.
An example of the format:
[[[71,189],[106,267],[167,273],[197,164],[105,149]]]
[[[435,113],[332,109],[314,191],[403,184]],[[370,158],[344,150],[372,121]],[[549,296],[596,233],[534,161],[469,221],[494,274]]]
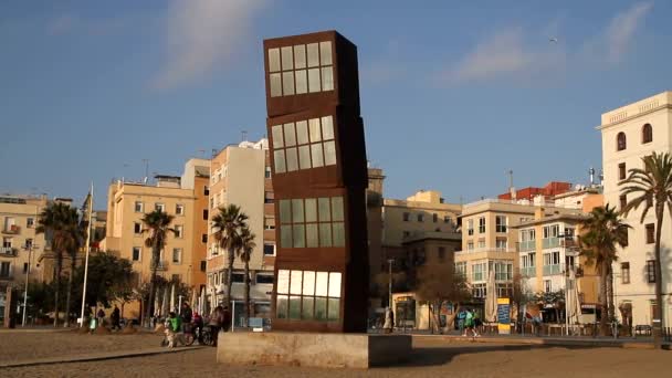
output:
[[[277,271],[275,316],[285,319],[338,322],[339,272]]]

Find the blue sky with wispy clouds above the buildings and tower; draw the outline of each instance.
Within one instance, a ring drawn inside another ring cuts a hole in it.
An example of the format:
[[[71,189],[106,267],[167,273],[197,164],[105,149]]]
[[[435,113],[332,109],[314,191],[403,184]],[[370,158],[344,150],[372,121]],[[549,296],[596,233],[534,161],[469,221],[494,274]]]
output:
[[[600,114],[672,90],[671,1],[0,2],[0,193],[104,209],[115,178],[180,175],[265,135],[262,41],[358,46],[385,197],[470,202],[587,183]],[[557,42],[550,41],[557,39]]]

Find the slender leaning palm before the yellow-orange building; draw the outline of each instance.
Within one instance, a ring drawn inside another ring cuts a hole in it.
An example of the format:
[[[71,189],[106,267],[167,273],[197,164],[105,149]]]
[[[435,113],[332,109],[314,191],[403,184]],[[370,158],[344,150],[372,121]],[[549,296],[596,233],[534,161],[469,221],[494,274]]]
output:
[[[168,233],[177,234],[177,230],[170,228],[170,223],[175,217],[164,212],[159,209],[148,212],[143,217],[143,233],[147,233],[148,237],[145,239],[145,245],[151,248],[151,277],[149,280],[149,298],[146,303],[145,322],[148,322],[151,317],[151,306],[154,304],[154,294],[156,285],[156,271],[159,267],[159,259],[161,258],[161,250],[166,245],[166,239]]]

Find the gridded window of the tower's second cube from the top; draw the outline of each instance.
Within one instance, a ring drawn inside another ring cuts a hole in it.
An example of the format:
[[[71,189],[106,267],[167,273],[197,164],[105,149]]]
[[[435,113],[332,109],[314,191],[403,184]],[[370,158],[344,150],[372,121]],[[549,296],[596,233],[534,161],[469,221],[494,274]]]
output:
[[[330,115],[272,126],[271,136],[276,174],[336,165]]]

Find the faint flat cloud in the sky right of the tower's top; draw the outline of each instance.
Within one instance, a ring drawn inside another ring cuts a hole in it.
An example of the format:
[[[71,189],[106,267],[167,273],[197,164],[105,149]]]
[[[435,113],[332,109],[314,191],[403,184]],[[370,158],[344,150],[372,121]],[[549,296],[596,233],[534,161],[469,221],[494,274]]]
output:
[[[519,28],[496,32],[481,41],[460,62],[444,73],[451,82],[481,81],[498,76],[538,73],[564,61],[564,50],[539,35],[544,48],[526,43]]]

